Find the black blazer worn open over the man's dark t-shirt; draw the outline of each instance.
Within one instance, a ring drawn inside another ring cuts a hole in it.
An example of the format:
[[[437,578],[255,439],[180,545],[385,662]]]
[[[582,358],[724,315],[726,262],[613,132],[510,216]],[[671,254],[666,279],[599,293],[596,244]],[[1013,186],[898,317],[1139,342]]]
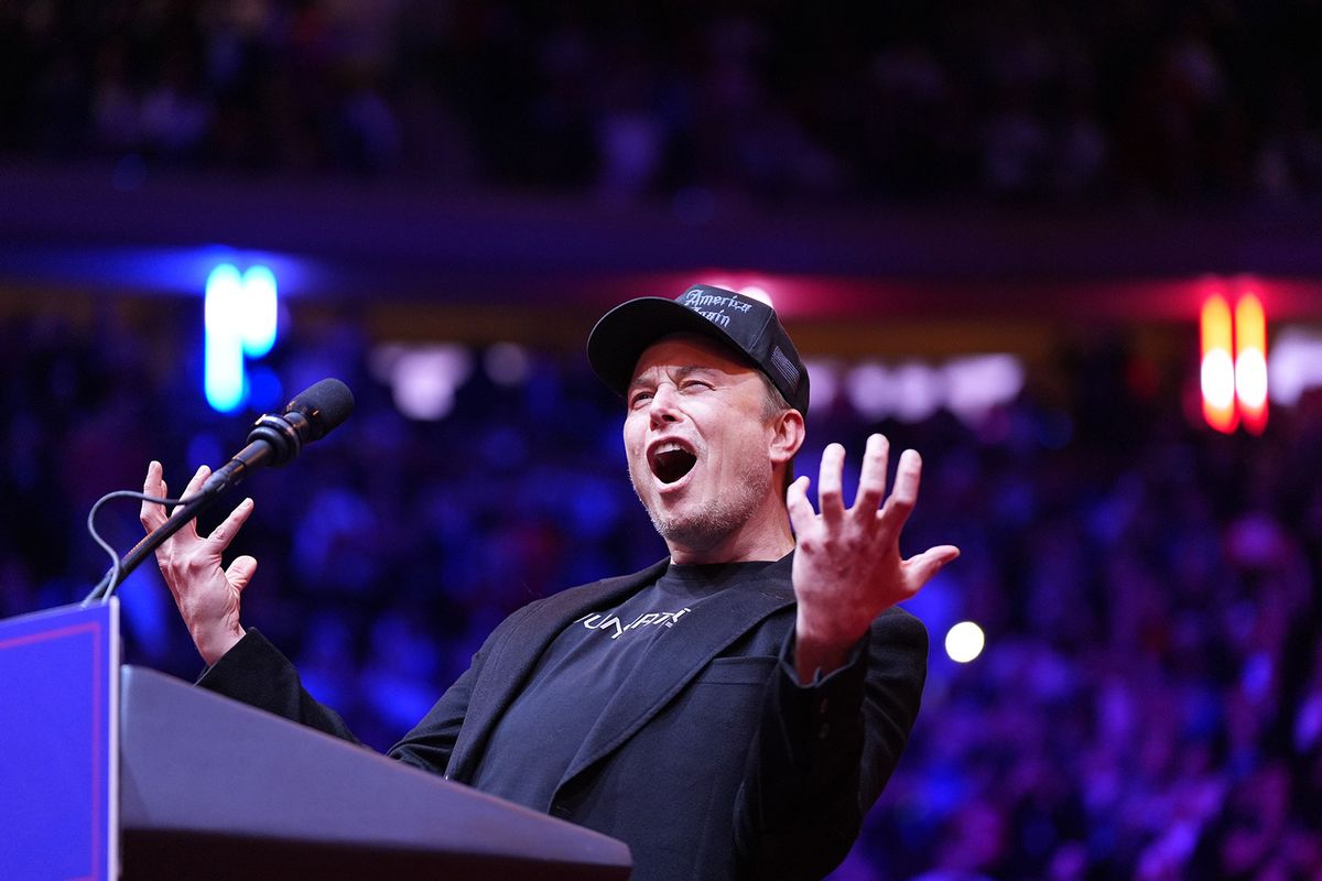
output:
[[[557,787],[550,812],[625,841],[637,881],[820,878],[849,852],[899,761],[923,691],[927,630],[891,609],[846,667],[798,686],[792,556],[709,600],[690,626],[661,634]],[[550,642],[666,564],[514,612],[389,754],[471,782]],[[198,684],[354,740],[256,631]]]

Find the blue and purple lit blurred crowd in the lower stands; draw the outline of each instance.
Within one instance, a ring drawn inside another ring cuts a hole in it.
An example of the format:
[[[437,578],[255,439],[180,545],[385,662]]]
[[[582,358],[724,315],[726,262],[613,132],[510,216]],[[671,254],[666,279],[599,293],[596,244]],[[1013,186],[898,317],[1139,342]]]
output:
[[[178,491],[241,445],[251,413],[202,400],[194,312],[0,329],[0,616],[86,593],[107,561],[82,520],[148,458]],[[924,708],[838,881],[1322,877],[1322,399],[1263,437],[1215,435],[1182,376],[1121,342],[1062,353],[1066,382],[974,424],[812,411],[800,473],[884,431],[927,461],[908,549],[964,551],[911,604],[932,634]],[[664,546],[627,482],[623,408],[576,351],[529,353],[514,382],[475,370],[439,421],[399,415],[370,351],[345,325],[272,353],[284,387],[254,380],[254,409],[337,375],[357,411],[250,478],[237,549],[260,561],[247,623],[383,748],[509,610]],[[127,548],[136,503],[99,523]],[[127,659],[194,676],[153,567],[122,597]],[[961,619],[988,638],[965,664],[943,649]]]

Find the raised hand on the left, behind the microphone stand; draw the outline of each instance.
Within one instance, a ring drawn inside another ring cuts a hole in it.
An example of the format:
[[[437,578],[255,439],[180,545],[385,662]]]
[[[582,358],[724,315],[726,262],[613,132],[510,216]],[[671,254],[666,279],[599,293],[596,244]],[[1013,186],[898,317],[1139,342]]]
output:
[[[212,469],[205,465],[197,469],[182,498],[197,493],[210,473]],[[160,462],[153,461],[147,466],[143,491],[147,495],[167,498]],[[223,569],[221,555],[250,514],[253,514],[253,499],[243,499],[205,539],[197,534],[194,519],[156,549],[156,563],[165,576],[169,592],[175,594],[175,605],[178,606],[184,623],[193,637],[193,645],[208,666],[219,660],[221,655],[243,638],[243,627],[239,625],[239,594],[253,580],[256,560],[241,556]],[[143,502],[140,519],[143,527],[151,532],[167,520],[165,506]]]

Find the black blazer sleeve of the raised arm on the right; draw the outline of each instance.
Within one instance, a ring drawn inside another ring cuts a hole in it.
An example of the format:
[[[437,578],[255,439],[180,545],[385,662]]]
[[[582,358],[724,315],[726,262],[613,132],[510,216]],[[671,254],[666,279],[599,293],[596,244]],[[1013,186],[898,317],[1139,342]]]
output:
[[[793,630],[768,684],[735,807],[736,853],[756,878],[821,878],[849,853],[899,762],[927,678],[927,629],[879,616],[849,663],[809,686]]]

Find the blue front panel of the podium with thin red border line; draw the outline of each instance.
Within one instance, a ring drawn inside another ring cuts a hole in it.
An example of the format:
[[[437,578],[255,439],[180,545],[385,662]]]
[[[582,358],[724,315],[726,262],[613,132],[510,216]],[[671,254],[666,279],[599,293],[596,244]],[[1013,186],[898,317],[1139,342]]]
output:
[[[119,606],[0,621],[0,874],[118,873]]]

